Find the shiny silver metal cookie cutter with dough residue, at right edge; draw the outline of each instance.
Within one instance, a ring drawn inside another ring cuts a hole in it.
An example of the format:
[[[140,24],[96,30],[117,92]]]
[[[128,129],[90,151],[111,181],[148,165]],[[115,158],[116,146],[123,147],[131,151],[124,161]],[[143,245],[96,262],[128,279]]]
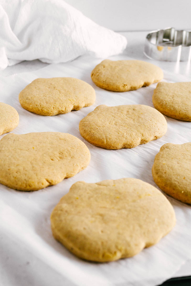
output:
[[[145,39],[144,54],[158,61],[191,61],[191,31],[165,28],[151,31]]]

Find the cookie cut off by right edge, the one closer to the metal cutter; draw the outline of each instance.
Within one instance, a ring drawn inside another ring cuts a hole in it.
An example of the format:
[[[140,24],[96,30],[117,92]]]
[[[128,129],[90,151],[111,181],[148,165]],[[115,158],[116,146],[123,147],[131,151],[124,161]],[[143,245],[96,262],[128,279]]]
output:
[[[153,105],[168,117],[191,121],[191,82],[159,82],[153,93]]]

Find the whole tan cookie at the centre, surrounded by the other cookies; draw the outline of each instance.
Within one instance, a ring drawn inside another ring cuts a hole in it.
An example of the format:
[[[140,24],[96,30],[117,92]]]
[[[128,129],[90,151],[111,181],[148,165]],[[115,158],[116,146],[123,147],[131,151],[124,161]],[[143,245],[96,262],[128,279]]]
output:
[[[133,148],[162,137],[167,131],[164,116],[146,105],[99,105],[79,124],[81,136],[105,149]]]

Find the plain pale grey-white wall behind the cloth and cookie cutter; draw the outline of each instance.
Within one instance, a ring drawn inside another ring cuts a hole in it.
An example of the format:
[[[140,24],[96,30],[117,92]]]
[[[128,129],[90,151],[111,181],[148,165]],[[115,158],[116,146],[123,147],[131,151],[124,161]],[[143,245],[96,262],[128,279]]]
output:
[[[97,24],[114,31],[175,27],[191,30],[190,0],[66,0]]]

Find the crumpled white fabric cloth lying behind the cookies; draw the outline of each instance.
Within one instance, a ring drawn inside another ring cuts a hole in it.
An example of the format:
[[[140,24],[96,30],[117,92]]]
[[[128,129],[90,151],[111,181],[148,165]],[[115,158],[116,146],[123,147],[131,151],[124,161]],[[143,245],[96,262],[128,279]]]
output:
[[[62,0],[0,0],[0,69],[23,60],[66,62],[84,54],[106,58],[127,40]]]

